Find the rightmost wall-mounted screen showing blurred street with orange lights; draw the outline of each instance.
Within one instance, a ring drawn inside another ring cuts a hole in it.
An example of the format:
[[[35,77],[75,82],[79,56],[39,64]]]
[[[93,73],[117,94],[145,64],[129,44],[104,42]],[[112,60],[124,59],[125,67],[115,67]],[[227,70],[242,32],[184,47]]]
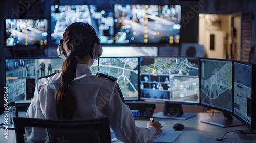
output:
[[[180,5],[115,4],[114,41],[177,44],[180,21]]]

